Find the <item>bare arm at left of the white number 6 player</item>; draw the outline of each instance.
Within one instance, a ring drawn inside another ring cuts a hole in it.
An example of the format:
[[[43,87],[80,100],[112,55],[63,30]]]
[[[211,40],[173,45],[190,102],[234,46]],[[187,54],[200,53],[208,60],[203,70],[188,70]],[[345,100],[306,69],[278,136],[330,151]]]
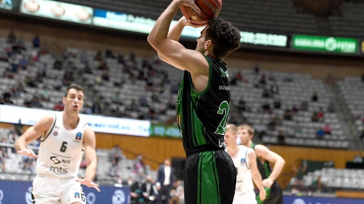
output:
[[[29,127],[23,135],[20,136],[19,139],[15,142],[15,148],[17,150],[18,154],[25,155],[25,156],[31,156],[34,158],[38,158],[37,155],[34,154],[34,152],[31,149],[27,148],[27,144],[33,142],[40,136],[46,137],[50,130],[51,126],[54,123],[55,116],[50,115],[47,117],[44,117],[40,119],[34,126]]]

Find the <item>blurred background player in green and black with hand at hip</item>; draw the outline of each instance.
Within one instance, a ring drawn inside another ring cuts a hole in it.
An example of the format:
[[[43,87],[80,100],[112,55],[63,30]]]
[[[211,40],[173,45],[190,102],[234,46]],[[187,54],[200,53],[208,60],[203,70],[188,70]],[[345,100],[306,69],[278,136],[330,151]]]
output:
[[[263,179],[263,186],[267,193],[266,199],[261,201],[257,196],[258,204],[283,204],[282,189],[278,185],[276,179],[283,170],[285,161],[275,152],[270,151],[266,146],[254,144],[252,141],[254,128],[251,125],[244,124],[238,127],[238,136],[241,138],[241,144],[253,148],[257,155],[257,165]],[[270,164],[273,163],[273,170]]]

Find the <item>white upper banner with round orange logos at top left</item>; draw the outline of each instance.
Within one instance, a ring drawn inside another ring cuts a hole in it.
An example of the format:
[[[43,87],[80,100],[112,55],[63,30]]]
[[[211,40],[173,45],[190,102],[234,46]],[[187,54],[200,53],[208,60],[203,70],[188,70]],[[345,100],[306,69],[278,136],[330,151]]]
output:
[[[51,0],[23,0],[20,12],[50,19],[91,24],[93,9]]]

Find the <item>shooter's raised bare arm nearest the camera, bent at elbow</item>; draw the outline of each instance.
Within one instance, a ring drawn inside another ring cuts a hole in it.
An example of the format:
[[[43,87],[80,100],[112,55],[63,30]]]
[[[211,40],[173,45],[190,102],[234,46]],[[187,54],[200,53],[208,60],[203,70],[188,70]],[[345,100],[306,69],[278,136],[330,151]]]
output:
[[[172,1],[154,24],[153,29],[149,33],[148,42],[157,50],[159,56],[162,56],[162,60],[170,65],[182,70],[188,70],[191,74],[206,74],[206,72],[208,74],[209,64],[200,52],[186,49],[179,42],[168,38],[171,21],[182,4],[189,5],[199,11],[194,4],[194,0]],[[175,32],[182,32],[181,25],[177,26]],[[175,38],[175,36],[172,37]],[[212,46],[211,41],[207,41],[206,44],[207,46]]]

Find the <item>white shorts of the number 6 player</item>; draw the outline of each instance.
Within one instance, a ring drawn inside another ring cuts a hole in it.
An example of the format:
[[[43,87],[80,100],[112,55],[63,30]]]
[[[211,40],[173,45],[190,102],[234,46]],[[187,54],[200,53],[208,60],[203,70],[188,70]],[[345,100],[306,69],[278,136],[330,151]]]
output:
[[[86,204],[81,184],[75,179],[56,179],[37,175],[32,187],[35,204]]]

